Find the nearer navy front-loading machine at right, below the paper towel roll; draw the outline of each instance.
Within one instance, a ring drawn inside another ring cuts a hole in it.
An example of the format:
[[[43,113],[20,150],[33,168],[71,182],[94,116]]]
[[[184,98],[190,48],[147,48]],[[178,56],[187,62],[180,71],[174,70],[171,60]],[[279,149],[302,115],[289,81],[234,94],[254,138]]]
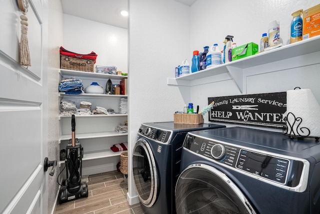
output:
[[[178,214],[320,212],[320,143],[226,127],[189,132],[175,187]]]

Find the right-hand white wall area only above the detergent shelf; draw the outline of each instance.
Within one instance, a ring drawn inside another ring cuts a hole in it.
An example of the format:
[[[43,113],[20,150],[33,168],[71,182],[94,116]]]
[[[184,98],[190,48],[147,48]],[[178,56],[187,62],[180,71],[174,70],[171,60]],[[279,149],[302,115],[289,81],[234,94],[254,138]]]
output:
[[[226,35],[233,35],[238,45],[251,41],[259,44],[272,20],[280,21],[280,37],[288,44],[291,13],[318,3],[320,0],[197,0],[190,7],[189,58],[193,49],[203,50],[205,45],[218,43],[222,48]]]

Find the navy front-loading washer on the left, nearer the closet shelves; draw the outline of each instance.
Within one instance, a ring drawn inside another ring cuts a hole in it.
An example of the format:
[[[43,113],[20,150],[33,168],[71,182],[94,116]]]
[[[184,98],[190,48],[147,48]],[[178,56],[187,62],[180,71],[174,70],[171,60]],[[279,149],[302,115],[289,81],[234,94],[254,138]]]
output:
[[[182,143],[189,131],[225,127],[217,124],[142,123],[133,148],[133,180],[144,213],[171,214],[180,170]]]

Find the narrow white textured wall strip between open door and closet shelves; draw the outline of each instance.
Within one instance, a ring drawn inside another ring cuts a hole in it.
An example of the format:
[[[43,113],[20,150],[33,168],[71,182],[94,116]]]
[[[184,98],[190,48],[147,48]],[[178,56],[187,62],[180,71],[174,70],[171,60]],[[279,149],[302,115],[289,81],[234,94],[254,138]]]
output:
[[[62,7],[60,1],[48,1],[48,158],[58,160],[59,156],[59,126],[58,126],[58,88],[59,83],[59,47],[62,44]],[[50,170],[50,168],[49,168]],[[58,185],[56,177],[58,166],[53,176],[48,177],[48,211],[53,213]]]

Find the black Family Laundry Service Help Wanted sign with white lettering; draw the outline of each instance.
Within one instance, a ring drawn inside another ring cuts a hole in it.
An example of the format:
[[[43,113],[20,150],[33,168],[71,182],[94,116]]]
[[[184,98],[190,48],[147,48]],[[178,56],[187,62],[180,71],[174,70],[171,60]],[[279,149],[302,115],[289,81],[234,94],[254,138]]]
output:
[[[286,92],[208,97],[209,121],[282,128]]]

